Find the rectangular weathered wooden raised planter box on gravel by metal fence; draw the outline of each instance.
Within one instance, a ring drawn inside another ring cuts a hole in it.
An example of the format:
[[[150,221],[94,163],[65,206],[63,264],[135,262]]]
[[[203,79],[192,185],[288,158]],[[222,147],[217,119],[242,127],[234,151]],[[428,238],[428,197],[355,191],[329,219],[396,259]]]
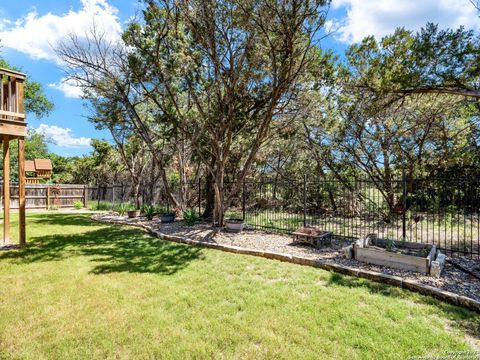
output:
[[[389,266],[399,270],[416,271],[422,274],[430,274],[430,266],[435,260],[437,249],[435,245],[425,245],[413,242],[394,241],[394,246],[399,250],[406,250],[418,255],[408,255],[385,249],[387,242],[367,236],[353,244],[354,258],[369,264]],[[421,253],[426,255],[421,256]]]

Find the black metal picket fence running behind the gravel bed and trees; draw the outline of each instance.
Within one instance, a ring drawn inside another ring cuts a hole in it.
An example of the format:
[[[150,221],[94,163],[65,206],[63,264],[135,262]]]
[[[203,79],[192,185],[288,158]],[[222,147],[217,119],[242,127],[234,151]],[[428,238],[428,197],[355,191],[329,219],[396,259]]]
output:
[[[140,194],[143,203],[168,206],[161,187],[143,188]],[[188,207],[203,211],[205,184],[189,184],[184,197]],[[92,187],[89,198],[105,209],[133,200],[126,185]],[[306,177],[247,180],[226,214],[258,229],[289,233],[311,225],[352,240],[376,233],[475,258],[480,258],[479,215],[480,184],[471,179],[403,178],[386,186],[370,179]]]

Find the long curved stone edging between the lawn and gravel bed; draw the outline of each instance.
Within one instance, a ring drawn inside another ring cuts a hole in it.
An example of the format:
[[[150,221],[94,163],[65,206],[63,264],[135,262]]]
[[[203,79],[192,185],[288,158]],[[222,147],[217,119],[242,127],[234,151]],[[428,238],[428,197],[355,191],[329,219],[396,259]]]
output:
[[[187,245],[204,247],[209,249],[217,249],[217,250],[222,250],[222,251],[230,252],[234,254],[259,256],[266,259],[279,260],[279,261],[289,262],[297,265],[311,266],[311,267],[315,267],[315,268],[319,268],[327,271],[333,271],[343,275],[364,278],[377,283],[382,283],[382,284],[387,284],[387,285],[392,285],[392,286],[400,287],[403,289],[407,289],[413,292],[420,293],[422,295],[429,295],[436,299],[445,301],[447,303],[463,306],[470,310],[480,312],[480,301],[476,301],[472,298],[458,295],[450,291],[442,290],[434,286],[420,284],[419,282],[414,280],[403,279],[400,276],[382,274],[382,273],[379,273],[376,271],[370,271],[370,270],[354,269],[354,268],[340,265],[340,264],[333,264],[333,263],[329,263],[321,260],[307,259],[299,256],[290,255],[290,254],[276,253],[272,251],[254,250],[254,249],[248,249],[248,248],[232,246],[232,245],[208,243],[204,241],[193,240],[185,236],[167,235],[159,231],[154,231],[149,226],[144,224],[129,224],[129,223],[124,223],[116,220],[99,219],[99,218],[95,218],[94,216],[92,216],[91,219],[97,222],[102,222],[107,224],[126,225],[126,226],[134,226],[134,227],[142,228],[143,230],[147,231],[150,235],[154,237],[157,237],[162,240],[180,243],[180,244],[187,244]]]

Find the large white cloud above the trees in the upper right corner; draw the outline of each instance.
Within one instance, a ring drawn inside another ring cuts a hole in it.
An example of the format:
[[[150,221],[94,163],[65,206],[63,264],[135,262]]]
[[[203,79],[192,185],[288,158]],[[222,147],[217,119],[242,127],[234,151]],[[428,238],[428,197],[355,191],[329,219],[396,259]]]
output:
[[[333,19],[336,38],[345,43],[361,41],[365,36],[377,38],[393,33],[397,27],[419,30],[427,22],[441,28],[478,29],[480,19],[468,0],[333,0],[334,9],[344,7],[347,15]]]

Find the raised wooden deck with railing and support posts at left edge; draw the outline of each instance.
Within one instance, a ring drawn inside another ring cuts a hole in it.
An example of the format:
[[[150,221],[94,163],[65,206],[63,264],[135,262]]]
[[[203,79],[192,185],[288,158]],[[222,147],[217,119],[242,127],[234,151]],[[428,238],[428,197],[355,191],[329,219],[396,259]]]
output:
[[[10,141],[18,140],[19,244],[25,234],[25,75],[0,68],[0,138],[3,142],[3,245],[10,243]]]

